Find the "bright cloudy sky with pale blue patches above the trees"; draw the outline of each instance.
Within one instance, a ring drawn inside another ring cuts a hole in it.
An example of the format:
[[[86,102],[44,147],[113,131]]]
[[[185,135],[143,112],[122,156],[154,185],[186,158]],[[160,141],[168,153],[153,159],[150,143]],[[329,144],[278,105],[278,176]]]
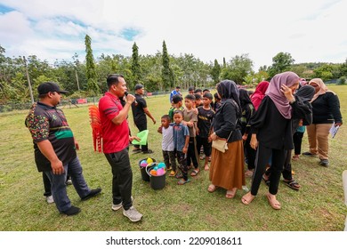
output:
[[[295,62],[342,63],[347,58],[347,0],[0,0],[0,45],[6,56],[85,60],[161,51],[192,53],[206,62],[248,53],[254,69],[278,52]]]

